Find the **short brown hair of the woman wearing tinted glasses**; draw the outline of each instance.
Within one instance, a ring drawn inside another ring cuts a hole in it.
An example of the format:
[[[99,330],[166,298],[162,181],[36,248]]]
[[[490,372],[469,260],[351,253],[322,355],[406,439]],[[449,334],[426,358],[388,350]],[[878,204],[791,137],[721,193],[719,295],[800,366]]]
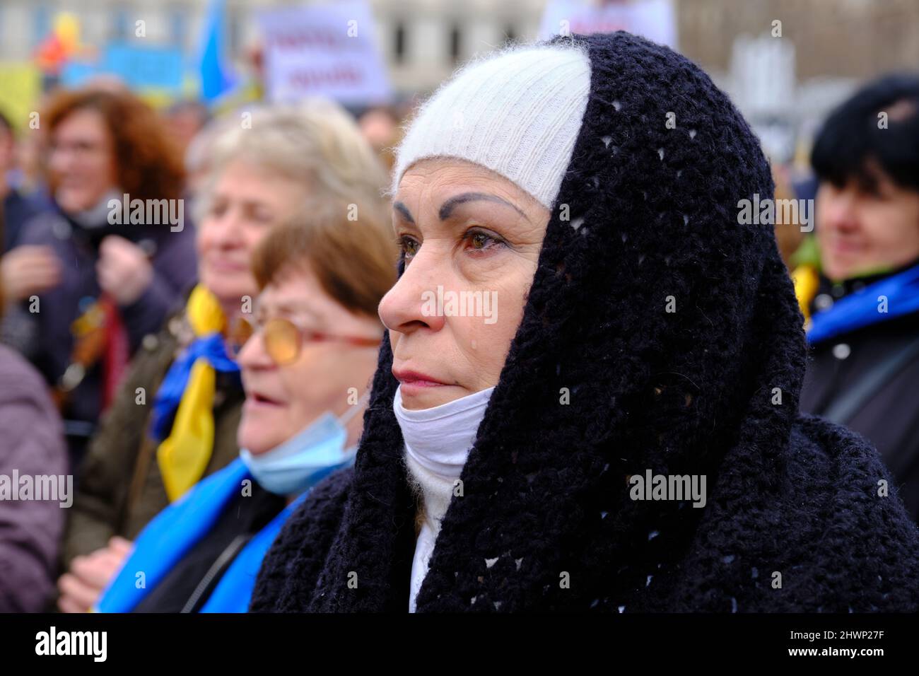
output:
[[[355,315],[376,317],[396,281],[396,262],[395,239],[379,207],[315,200],[265,235],[252,271],[262,290],[307,264],[335,301]]]

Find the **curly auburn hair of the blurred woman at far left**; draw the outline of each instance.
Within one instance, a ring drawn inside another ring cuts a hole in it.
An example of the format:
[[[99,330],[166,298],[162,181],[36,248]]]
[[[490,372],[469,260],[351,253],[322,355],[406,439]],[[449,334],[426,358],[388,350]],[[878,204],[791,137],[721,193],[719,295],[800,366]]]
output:
[[[185,167],[165,121],[128,91],[76,89],[58,92],[42,116],[51,134],[77,110],[96,110],[112,139],[119,188],[131,199],[176,200]],[[49,138],[50,140],[50,138]],[[52,186],[53,187],[53,186]]]

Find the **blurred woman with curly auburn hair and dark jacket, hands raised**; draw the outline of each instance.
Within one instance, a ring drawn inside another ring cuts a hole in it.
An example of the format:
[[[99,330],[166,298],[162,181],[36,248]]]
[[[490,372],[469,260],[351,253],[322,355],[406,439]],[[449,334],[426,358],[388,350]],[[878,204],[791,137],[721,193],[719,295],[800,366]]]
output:
[[[24,226],[2,273],[75,463],[130,356],[195,279],[194,236],[181,157],[140,99],[63,91],[40,124],[54,209]]]

